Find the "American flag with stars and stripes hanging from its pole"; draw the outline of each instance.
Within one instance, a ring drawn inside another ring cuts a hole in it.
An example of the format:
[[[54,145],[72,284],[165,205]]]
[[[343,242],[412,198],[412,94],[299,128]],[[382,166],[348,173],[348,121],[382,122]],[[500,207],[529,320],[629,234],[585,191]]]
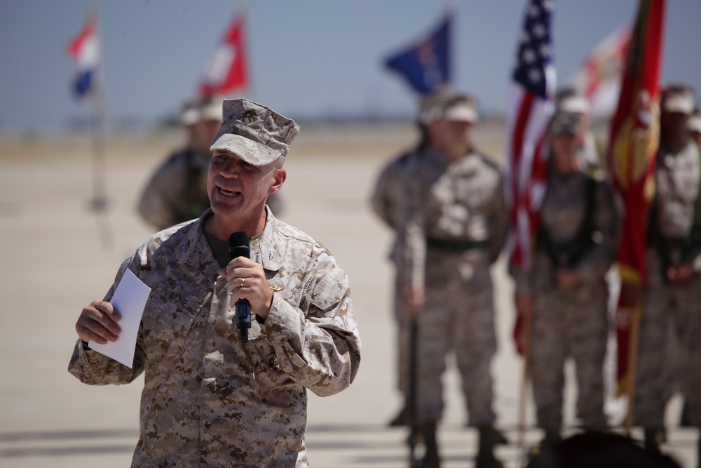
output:
[[[529,1],[509,89],[506,192],[512,222],[510,254],[522,269],[530,269],[533,263],[533,234],[545,194],[547,152],[543,142],[555,89],[553,10],[552,0]]]

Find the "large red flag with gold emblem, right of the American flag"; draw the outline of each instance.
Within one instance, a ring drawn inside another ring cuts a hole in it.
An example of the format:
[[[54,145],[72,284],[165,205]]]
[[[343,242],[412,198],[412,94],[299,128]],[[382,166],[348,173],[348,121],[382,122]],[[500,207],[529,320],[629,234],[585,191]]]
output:
[[[611,121],[606,160],[613,187],[625,206],[618,268],[622,283],[646,284],[648,213],[654,196],[655,159],[660,135],[660,63],[665,0],[641,0],[625,67],[618,107]],[[625,392],[629,323],[621,296],[616,333],[618,382]]]

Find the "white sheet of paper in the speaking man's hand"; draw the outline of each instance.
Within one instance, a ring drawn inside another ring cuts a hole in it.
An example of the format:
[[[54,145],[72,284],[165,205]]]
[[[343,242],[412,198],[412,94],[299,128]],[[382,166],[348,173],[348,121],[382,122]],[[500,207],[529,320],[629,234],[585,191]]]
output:
[[[108,341],[107,345],[100,345],[90,341],[88,347],[131,368],[134,362],[139,324],[149,294],[151,294],[151,288],[138,279],[130,269],[127,269],[109,301],[122,316],[118,322],[122,332],[114,342]]]

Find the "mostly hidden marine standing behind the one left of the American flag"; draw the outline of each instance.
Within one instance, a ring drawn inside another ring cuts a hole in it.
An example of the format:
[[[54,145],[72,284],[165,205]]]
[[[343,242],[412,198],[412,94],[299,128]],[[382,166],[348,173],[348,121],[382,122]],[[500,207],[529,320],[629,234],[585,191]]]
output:
[[[376,182],[370,203],[372,210],[390,229],[395,236],[390,248],[389,260],[395,268],[395,291],[393,307],[397,325],[397,386],[402,394],[404,406],[400,412],[390,421],[390,426],[403,426],[409,424],[409,319],[407,309],[404,307],[405,263],[402,261],[402,246],[398,242],[399,218],[402,205],[406,202],[407,168],[415,160],[423,158],[424,154],[432,149],[433,142],[430,138],[430,128],[436,125],[437,116],[440,113],[440,96],[437,91],[421,100],[418,110],[418,131],[420,138],[416,146],[409,151],[392,159],[382,168]]]

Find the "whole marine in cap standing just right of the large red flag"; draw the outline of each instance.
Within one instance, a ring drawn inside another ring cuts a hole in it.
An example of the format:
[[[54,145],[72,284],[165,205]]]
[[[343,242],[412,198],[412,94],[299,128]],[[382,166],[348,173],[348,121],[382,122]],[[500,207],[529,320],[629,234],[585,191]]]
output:
[[[664,440],[665,405],[677,382],[686,423],[701,427],[701,163],[686,128],[693,102],[686,85],[662,92],[634,404],[648,448]]]

